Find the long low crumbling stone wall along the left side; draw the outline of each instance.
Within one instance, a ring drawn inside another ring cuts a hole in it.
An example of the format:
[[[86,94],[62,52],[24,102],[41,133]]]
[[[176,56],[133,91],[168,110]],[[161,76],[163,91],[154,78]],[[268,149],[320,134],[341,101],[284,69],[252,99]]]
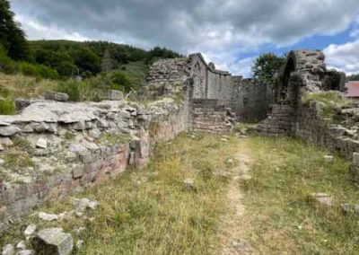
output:
[[[143,167],[152,145],[186,130],[187,121],[183,104],[171,99],[146,106],[33,101],[19,115],[0,116],[0,158],[13,150],[6,145],[26,140],[33,163],[13,168],[1,160],[0,232],[47,200],[114,178],[128,165]]]

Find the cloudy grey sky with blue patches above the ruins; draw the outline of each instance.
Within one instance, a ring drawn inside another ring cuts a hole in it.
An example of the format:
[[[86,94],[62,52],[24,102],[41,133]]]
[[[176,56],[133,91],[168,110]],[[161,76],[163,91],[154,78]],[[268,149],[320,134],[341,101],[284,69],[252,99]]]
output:
[[[201,52],[250,75],[264,52],[322,49],[359,73],[359,0],[11,0],[30,40],[109,40]]]

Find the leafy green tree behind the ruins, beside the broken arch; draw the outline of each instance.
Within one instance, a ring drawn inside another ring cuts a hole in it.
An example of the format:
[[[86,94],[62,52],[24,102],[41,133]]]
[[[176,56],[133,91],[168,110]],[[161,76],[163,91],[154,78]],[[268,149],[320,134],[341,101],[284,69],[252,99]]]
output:
[[[272,87],[276,85],[276,75],[285,63],[285,57],[277,57],[273,53],[259,56],[252,66],[253,78],[261,84]]]

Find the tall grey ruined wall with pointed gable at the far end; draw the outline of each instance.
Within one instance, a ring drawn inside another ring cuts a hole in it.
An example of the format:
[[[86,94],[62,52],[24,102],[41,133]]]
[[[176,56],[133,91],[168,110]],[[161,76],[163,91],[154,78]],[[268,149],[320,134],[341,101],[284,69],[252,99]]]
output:
[[[218,106],[230,108],[241,120],[266,118],[274,100],[273,88],[217,70],[213,63],[206,64],[201,54],[155,62],[145,95],[178,93],[185,86],[192,87],[193,99],[216,100]]]

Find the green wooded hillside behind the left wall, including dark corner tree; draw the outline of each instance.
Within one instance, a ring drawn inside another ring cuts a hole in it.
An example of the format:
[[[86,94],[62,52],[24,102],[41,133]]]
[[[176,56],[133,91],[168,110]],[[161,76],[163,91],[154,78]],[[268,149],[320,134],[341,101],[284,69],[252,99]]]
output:
[[[57,90],[70,93],[74,101],[98,98],[80,98],[83,87],[137,91],[153,61],[181,57],[167,48],[145,50],[107,41],[27,40],[8,0],[0,1],[0,17],[0,72],[58,81]],[[3,91],[0,96],[6,97]]]

